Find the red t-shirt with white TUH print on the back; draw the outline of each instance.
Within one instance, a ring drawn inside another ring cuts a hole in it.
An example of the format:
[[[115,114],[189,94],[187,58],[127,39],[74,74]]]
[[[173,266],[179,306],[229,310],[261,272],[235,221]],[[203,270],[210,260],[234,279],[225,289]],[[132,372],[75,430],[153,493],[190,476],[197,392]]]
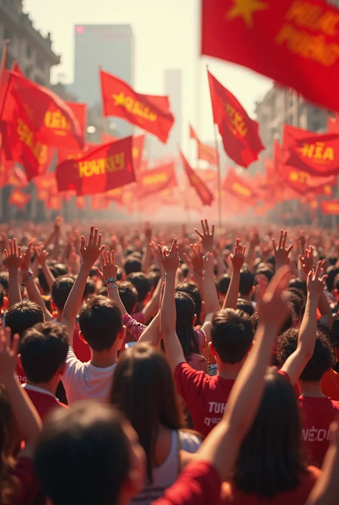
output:
[[[234,380],[210,377],[180,363],[174,372],[177,390],[191,413],[193,427],[206,436],[221,420]]]

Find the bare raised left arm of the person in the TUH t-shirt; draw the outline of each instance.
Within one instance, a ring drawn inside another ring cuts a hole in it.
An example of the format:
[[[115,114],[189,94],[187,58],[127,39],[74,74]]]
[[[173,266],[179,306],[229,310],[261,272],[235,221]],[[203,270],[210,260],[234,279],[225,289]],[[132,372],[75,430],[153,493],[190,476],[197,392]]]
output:
[[[176,332],[177,311],[174,288],[179,265],[177,239],[174,239],[171,250],[162,250],[160,245],[158,245],[158,250],[166,272],[165,289],[160,309],[160,332],[165,345],[167,361],[174,370],[179,363],[186,361]]]

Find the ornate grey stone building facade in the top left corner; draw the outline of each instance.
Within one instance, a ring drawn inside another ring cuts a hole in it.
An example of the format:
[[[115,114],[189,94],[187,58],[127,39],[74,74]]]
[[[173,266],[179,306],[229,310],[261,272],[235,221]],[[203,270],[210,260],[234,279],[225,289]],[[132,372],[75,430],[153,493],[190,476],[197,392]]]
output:
[[[43,37],[22,12],[21,0],[0,0],[0,55],[4,40],[9,39],[7,67],[17,60],[24,74],[43,86],[49,86],[50,68],[60,63],[52,51],[50,33]]]

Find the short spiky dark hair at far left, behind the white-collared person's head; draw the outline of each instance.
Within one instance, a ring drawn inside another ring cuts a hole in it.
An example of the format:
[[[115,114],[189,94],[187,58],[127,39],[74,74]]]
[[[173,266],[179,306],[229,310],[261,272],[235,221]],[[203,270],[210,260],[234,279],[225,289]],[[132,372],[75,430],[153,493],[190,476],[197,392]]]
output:
[[[12,335],[18,333],[20,337],[28,328],[44,322],[45,313],[43,308],[31,300],[18,301],[12,305],[5,316],[5,326],[11,328]]]

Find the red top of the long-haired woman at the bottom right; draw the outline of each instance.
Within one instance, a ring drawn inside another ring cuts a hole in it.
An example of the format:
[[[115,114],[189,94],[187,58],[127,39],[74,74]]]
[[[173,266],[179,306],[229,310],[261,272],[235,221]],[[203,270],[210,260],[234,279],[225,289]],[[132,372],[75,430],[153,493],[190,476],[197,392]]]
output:
[[[232,483],[224,482],[221,486],[220,503],[232,505],[302,505],[307,500],[317,478],[321,475],[319,468],[308,467],[307,473],[300,475],[300,484],[296,489],[286,493],[279,493],[273,498],[257,494],[245,494],[239,491]]]

